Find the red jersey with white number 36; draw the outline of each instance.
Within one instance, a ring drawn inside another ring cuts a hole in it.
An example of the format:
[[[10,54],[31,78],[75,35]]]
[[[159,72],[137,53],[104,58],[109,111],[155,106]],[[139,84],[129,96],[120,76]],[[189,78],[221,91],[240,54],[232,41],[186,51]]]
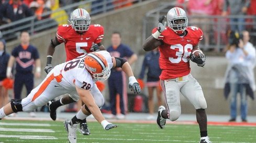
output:
[[[152,33],[157,28],[152,30]],[[190,73],[190,54],[193,46],[203,39],[203,32],[197,27],[188,27],[185,36],[177,35],[172,29],[166,28],[158,37],[163,42],[159,46],[159,65],[162,69],[161,80],[174,79]]]

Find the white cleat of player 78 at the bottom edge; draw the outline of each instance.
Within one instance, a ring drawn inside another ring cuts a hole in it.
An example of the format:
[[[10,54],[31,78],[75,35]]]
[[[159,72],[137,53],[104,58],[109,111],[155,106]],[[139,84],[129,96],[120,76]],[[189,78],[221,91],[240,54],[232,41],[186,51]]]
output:
[[[68,132],[68,139],[70,143],[76,143],[76,128],[78,124],[71,125],[71,120],[65,120],[63,122],[66,132]]]

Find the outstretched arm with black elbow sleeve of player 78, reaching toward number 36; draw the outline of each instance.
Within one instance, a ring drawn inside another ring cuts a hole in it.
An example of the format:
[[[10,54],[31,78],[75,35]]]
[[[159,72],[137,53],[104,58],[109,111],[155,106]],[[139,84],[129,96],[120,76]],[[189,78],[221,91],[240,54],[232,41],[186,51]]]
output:
[[[112,57],[113,61],[113,68],[122,68],[122,70],[126,73],[129,77],[129,88],[133,93],[139,94],[141,92],[141,87],[139,82],[133,76],[133,72],[131,70],[130,64],[127,62],[126,59],[119,58],[119,57]]]

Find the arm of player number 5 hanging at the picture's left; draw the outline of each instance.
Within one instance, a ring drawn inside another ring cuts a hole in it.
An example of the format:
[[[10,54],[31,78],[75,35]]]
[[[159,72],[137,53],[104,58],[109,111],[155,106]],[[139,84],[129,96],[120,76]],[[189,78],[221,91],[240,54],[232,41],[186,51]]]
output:
[[[55,47],[60,45],[60,44],[61,43],[57,40],[56,36],[55,36],[55,38],[51,39],[51,43],[50,43],[50,45],[48,47],[48,50],[47,50],[46,67],[44,68],[44,71],[46,71],[47,74],[52,70],[51,60],[52,60],[52,56],[53,56],[54,51],[55,51]]]

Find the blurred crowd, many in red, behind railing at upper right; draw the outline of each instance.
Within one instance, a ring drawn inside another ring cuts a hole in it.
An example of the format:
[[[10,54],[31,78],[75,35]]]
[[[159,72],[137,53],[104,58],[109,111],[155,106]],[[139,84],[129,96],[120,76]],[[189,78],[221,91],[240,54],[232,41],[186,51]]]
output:
[[[255,25],[252,24],[255,18],[244,18],[244,16],[256,14],[256,9],[253,8],[255,5],[256,1],[250,0],[176,1],[176,6],[184,8],[188,16],[191,17],[190,25],[195,25],[204,31],[203,50],[214,49],[210,45],[215,45],[218,37],[220,37],[221,44],[228,44],[228,31],[238,31],[239,33],[243,30],[255,31]]]

